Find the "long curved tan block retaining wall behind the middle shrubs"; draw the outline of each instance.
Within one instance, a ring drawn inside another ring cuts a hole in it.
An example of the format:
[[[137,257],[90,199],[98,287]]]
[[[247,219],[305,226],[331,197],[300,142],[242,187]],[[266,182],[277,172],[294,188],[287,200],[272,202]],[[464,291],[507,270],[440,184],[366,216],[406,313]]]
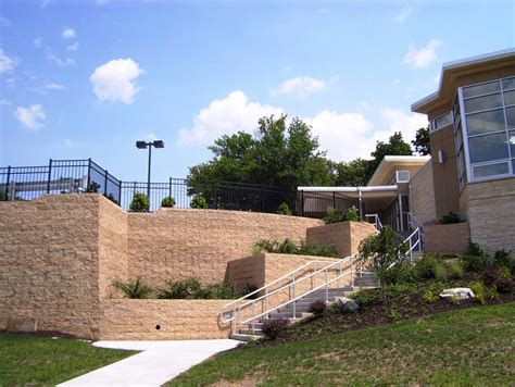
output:
[[[196,276],[224,280],[227,263],[252,253],[260,239],[305,238],[319,220],[276,214],[161,209],[128,213],[129,276],[152,285]]]

